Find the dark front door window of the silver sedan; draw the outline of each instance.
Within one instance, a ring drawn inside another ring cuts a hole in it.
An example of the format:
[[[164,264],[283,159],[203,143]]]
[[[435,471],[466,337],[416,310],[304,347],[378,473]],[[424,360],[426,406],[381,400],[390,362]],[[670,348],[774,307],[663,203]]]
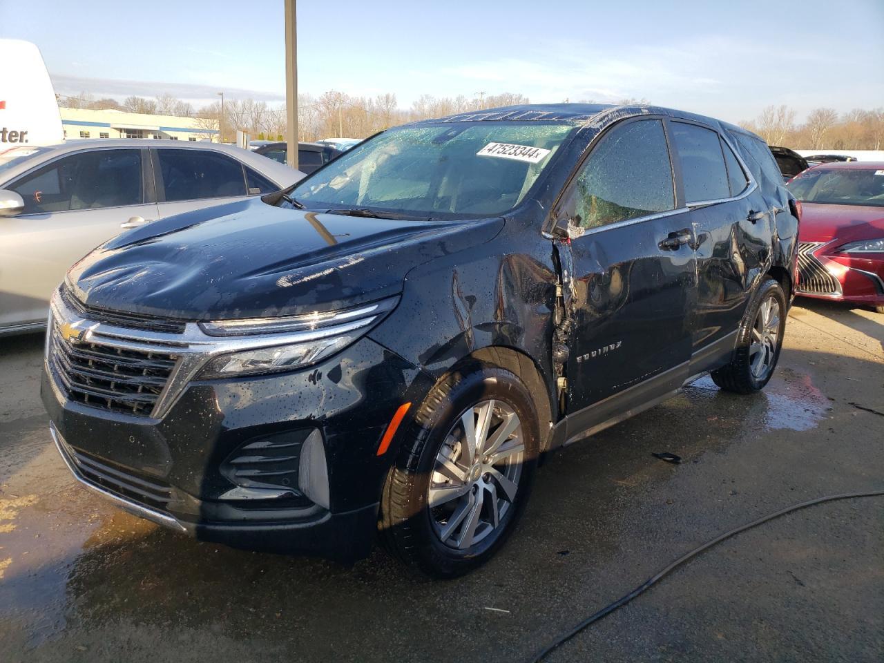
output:
[[[96,149],[43,166],[11,187],[25,214],[140,205],[141,151]]]

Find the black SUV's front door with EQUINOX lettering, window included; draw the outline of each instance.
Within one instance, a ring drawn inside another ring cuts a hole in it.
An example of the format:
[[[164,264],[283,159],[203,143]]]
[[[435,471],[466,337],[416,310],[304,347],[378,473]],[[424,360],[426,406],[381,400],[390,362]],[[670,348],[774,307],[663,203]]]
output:
[[[573,287],[565,283],[575,322],[566,363],[573,441],[682,385],[697,280],[662,119],[613,126],[563,201],[557,217],[579,225],[560,247],[574,275]]]

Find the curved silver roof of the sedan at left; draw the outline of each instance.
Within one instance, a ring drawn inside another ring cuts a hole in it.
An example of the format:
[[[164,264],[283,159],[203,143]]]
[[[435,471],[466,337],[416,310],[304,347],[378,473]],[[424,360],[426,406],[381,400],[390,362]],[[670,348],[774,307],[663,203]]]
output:
[[[81,152],[84,149],[113,149],[113,148],[137,148],[137,149],[201,149],[214,152],[223,152],[232,156],[237,161],[259,171],[264,177],[272,179],[281,187],[288,187],[298,179],[305,177],[301,171],[294,171],[285,164],[279,164],[266,156],[255,154],[250,149],[242,149],[236,145],[227,145],[210,141],[170,141],[168,139],[149,138],[96,138],[82,141],[65,141],[57,145],[41,146],[48,148],[35,156],[37,163],[42,163],[50,158],[57,158],[65,154]],[[27,160],[17,164],[14,168],[4,172],[4,181],[10,181],[19,177],[22,173],[34,168],[34,160]]]

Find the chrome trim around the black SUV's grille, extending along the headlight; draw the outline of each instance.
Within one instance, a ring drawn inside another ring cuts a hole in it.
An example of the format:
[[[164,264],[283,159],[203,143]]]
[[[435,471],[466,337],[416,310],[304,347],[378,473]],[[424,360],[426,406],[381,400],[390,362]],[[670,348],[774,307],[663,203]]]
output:
[[[59,292],[59,290],[56,290],[50,301],[50,325],[46,334],[47,339],[52,334],[52,320],[55,319],[56,321],[64,321],[68,329],[83,331],[82,340],[87,342],[119,347],[124,350],[174,354],[178,357],[163,391],[160,392],[154,408],[150,412],[150,417],[155,419],[162,418],[168,413],[179,399],[179,396],[185,391],[185,387],[187,387],[190,381],[196,377],[207,363],[218,355],[324,339],[329,336],[347,333],[348,331],[366,328],[377,321],[377,317],[381,315],[381,312],[385,312],[381,311],[376,315],[369,313],[365,317],[353,320],[346,319],[348,314],[352,313],[352,310],[347,309],[341,312],[342,317],[345,319],[342,319],[339,324],[330,324],[313,330],[224,337],[210,336],[202,331],[199,323],[193,322],[186,323],[185,331],[181,334],[132,330],[112,324],[104,324],[80,316],[72,311],[65,305],[65,301]],[[383,309],[383,307],[380,303],[377,303],[374,306],[362,308],[362,310],[366,309]],[[334,318],[335,316],[331,316],[332,320]],[[49,345],[47,345],[45,353],[46,361],[49,358],[48,348]],[[57,382],[53,371],[50,370],[49,375],[54,382]],[[139,418],[143,419],[143,417]]]

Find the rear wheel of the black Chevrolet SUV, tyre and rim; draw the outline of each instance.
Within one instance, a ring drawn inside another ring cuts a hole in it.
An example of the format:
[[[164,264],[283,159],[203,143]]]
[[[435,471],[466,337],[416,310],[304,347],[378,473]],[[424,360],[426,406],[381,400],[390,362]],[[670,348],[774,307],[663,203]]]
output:
[[[773,376],[786,331],[786,295],[768,278],[752,297],[730,363],[713,370],[716,385],[727,392],[752,393]]]

